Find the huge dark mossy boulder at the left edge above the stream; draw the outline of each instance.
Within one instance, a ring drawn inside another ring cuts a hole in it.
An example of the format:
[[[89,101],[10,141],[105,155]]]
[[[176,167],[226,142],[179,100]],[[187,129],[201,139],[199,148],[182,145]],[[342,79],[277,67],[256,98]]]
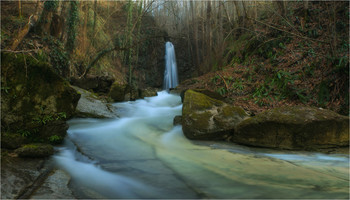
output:
[[[1,84],[1,126],[13,132],[40,129],[45,123],[33,123],[60,114],[70,118],[80,98],[48,63],[30,55],[1,53]]]

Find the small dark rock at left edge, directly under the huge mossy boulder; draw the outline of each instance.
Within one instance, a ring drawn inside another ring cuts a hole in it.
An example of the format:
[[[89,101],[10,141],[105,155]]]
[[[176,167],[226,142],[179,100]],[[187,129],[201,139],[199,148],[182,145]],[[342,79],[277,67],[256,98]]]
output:
[[[17,149],[27,142],[27,138],[19,133],[1,132],[1,148]]]

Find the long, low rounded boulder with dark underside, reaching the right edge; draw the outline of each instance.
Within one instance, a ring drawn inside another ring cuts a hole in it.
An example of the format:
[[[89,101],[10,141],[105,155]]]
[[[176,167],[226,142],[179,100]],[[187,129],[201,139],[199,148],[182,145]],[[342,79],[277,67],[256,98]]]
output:
[[[312,107],[276,108],[239,123],[232,141],[295,150],[349,146],[349,117]]]

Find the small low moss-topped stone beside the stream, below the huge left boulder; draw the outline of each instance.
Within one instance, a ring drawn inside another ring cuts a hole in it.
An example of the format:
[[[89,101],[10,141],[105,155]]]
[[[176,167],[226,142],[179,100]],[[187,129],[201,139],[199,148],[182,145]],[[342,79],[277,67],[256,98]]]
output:
[[[50,144],[27,144],[16,149],[15,153],[19,157],[43,158],[51,156],[54,153],[54,149]]]

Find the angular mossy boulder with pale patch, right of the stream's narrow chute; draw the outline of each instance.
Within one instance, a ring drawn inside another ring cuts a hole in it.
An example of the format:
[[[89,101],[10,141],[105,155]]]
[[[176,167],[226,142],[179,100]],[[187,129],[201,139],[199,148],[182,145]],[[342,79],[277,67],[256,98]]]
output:
[[[189,139],[226,139],[236,124],[247,117],[242,108],[193,90],[184,93],[182,129]]]

